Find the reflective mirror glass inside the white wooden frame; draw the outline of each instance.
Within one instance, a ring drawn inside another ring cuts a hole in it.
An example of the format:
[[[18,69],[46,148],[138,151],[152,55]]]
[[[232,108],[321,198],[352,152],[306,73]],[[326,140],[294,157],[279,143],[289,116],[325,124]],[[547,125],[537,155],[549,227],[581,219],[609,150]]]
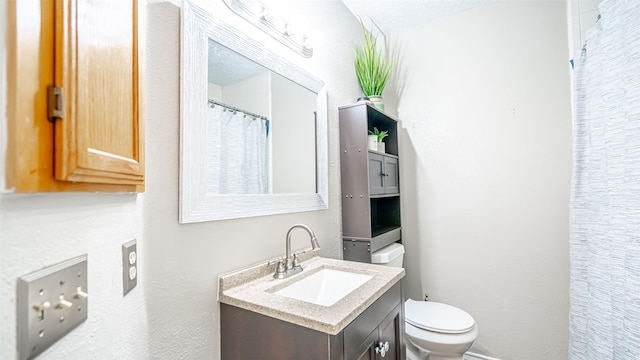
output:
[[[316,93],[212,39],[207,85],[208,192],[316,192]]]

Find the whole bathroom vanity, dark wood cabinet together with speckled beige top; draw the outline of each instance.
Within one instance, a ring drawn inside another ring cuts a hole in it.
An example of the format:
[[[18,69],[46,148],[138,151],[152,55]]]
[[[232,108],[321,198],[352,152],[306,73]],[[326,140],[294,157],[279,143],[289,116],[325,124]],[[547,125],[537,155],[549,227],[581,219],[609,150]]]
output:
[[[404,269],[317,255],[302,266],[284,280],[266,263],[220,276],[223,359],[404,359]],[[330,305],[277,294],[325,270],[368,280]]]

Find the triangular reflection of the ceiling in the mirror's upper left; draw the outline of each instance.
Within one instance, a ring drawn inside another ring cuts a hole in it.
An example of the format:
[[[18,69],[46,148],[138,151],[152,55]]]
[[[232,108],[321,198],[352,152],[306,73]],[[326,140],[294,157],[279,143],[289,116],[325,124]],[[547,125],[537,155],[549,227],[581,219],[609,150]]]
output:
[[[268,70],[229,48],[209,40],[209,82],[234,84]]]

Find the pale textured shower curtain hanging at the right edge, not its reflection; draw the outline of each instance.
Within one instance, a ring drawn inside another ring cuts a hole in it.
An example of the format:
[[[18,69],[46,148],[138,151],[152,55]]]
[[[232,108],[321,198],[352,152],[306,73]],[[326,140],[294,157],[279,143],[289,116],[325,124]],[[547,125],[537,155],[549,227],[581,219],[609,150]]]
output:
[[[604,0],[575,67],[571,360],[640,359],[640,1]]]

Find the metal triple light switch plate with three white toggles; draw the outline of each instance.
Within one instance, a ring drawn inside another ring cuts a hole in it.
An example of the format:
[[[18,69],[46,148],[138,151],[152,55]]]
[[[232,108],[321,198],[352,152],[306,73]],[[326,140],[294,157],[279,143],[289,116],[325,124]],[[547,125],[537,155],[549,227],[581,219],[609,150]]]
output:
[[[32,359],[87,319],[87,255],[18,279],[18,354]]]

